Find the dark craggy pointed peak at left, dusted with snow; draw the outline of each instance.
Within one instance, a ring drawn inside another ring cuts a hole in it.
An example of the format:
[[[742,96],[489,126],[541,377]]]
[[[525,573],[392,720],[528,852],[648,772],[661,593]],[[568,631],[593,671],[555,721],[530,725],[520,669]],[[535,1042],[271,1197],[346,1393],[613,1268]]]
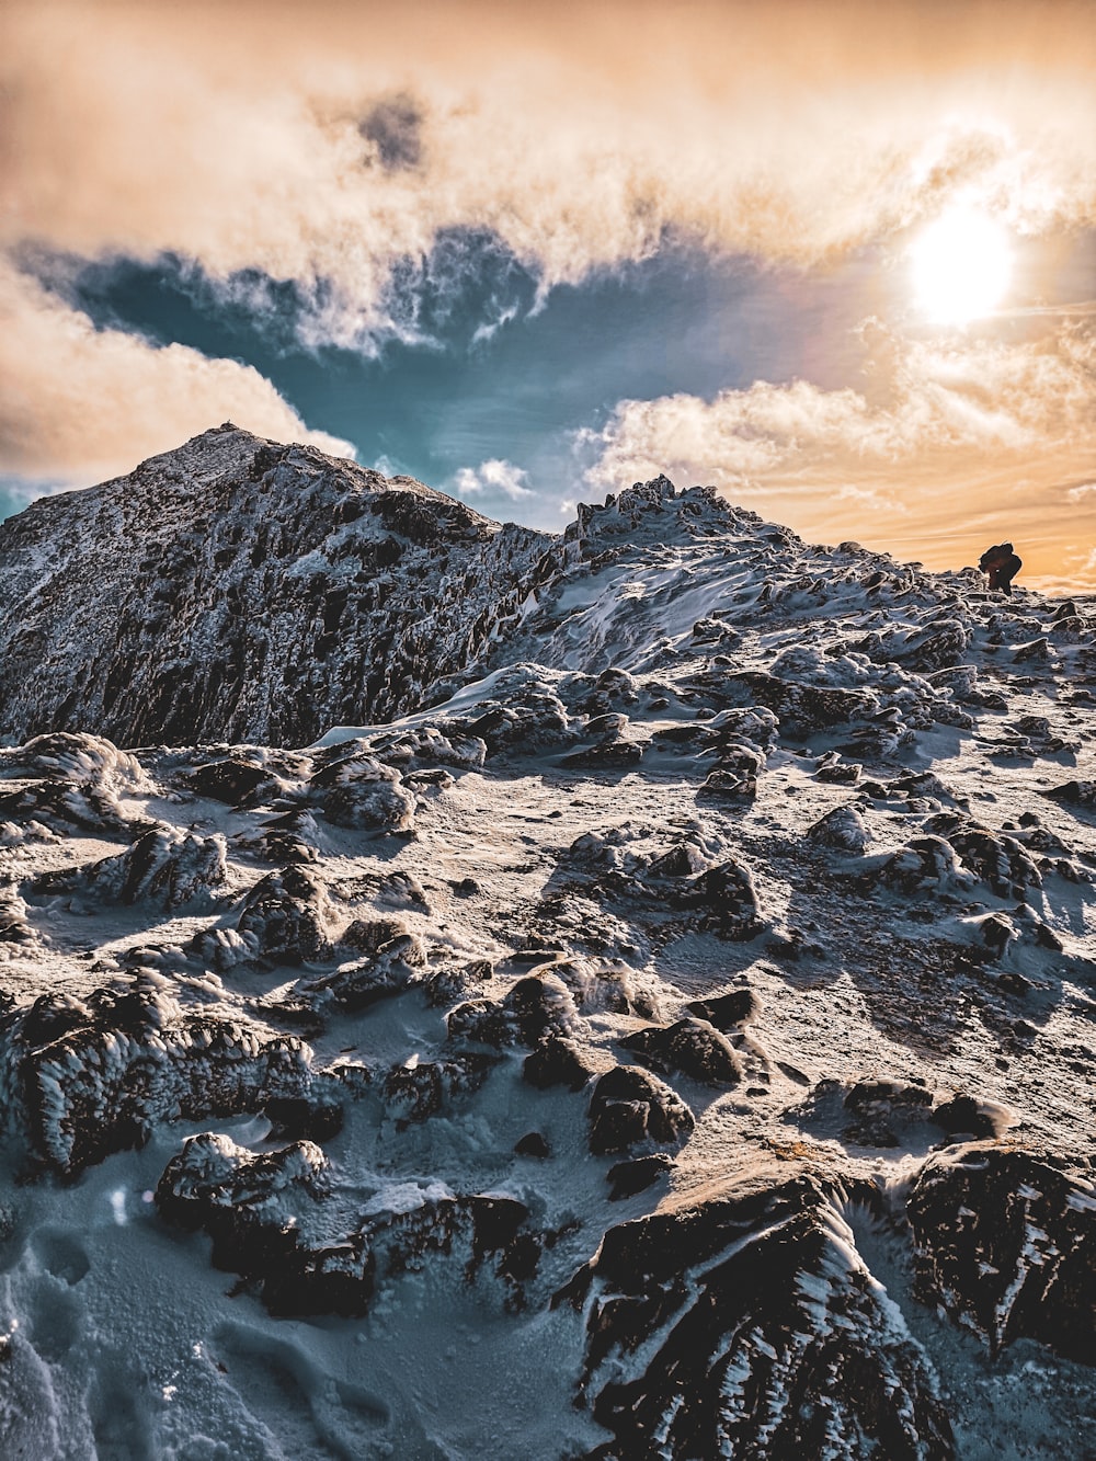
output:
[[[549,545],[409,478],[206,431],[0,524],[0,735],[304,745],[376,723],[484,650]]]

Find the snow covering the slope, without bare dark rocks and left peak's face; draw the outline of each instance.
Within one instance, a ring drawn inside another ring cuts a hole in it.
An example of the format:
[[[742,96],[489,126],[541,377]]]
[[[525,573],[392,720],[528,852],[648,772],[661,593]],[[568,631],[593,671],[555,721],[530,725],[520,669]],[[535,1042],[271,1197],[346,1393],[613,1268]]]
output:
[[[208,434],[134,478],[183,516],[196,481],[246,476],[257,446],[244,437]],[[286,491],[321,500],[324,470],[304,449],[276,468]],[[51,520],[121,511],[95,491],[57,500]],[[805,545],[669,484],[583,508],[539,543],[551,562],[535,592],[529,535],[506,562],[495,524],[469,522],[509,608],[465,666],[434,646],[395,722],[332,723],[292,751],[117,748],[99,729],[0,751],[0,1454],[580,1455],[608,1439],[574,1404],[590,1306],[552,1294],[621,1223],[794,1175],[829,1194],[829,1256],[792,1270],[810,1335],[785,1349],[760,1330],[728,1335],[728,1413],[758,1356],[779,1416],[785,1359],[811,1335],[862,1331],[921,1356],[964,1461],[1095,1449],[1092,1370],[1026,1338],[991,1357],[913,1297],[900,1223],[834,1204],[871,1188],[900,1214],[931,1154],[973,1169],[978,1138],[1059,1161],[1064,1210],[1092,1223],[1096,820],[1080,793],[1049,793],[1096,780],[1096,603],[1073,600],[1083,624],[1067,636],[1055,600],[1020,589],[1004,602],[970,574]],[[48,542],[26,548],[20,593],[37,592]],[[327,571],[335,546],[302,543],[286,581]],[[1040,640],[1046,655],[1032,655]],[[362,652],[339,638],[338,663],[343,650]],[[614,764],[624,744],[639,755]],[[608,755],[564,764],[576,748]],[[200,795],[213,761],[265,780],[235,802]],[[735,796],[707,785],[720,766]],[[332,792],[355,787],[359,815],[343,815]],[[378,789],[399,805],[377,809]],[[308,861],[265,850],[285,817]],[[149,871],[134,868],[140,839]],[[703,901],[701,880],[732,862],[756,890],[751,937],[728,937]],[[539,1014],[514,1012],[507,995],[530,976]],[[362,1002],[339,995],[346,980]],[[96,1004],[137,988],[136,1026]],[[513,1021],[558,1021],[602,1072],[640,1059],[627,1036],[728,991],[757,1001],[748,1030],[725,1031],[741,1081],[661,1072],[696,1128],[662,1148],[668,1175],[611,1202],[623,1157],[590,1154],[586,1093],[522,1078],[530,1046]],[[64,996],[54,1015],[76,1033],[35,1055],[20,1031],[45,993]],[[462,1002],[482,1005],[481,1031],[506,1014],[511,1033],[454,1040]],[[416,1093],[437,1075],[437,1103],[419,1115],[393,1072],[424,1081]],[[871,1083],[878,1099],[858,1106]],[[528,1230],[551,1236],[535,1274],[514,1287],[494,1256],[469,1267],[459,1224],[444,1242],[435,1226],[377,1274],[365,1313],[267,1312],[253,1277],[215,1270],[210,1237],[165,1221],[149,1195],[189,1137],[210,1134],[228,1166],[285,1150],[297,1138],[278,1135],[275,1094],[342,1112],[339,1129],[300,1138],[321,1159],[321,1197],[301,1205],[292,1167],[269,1199],[285,1230],[338,1248],[370,1224],[414,1233],[446,1205],[519,1201]],[[963,1097],[978,1131],[947,1125]],[[140,1115],[143,1145],[114,1129],[123,1112]],[[529,1134],[547,1156],[514,1151]],[[954,1230],[975,1216],[960,1207]],[[742,1251],[779,1232],[758,1227]],[[1029,1224],[1007,1303],[1052,1249]],[[690,1264],[685,1309],[738,1251]],[[878,1330],[848,1306],[849,1284]],[[614,1349],[621,1373],[643,1379],[681,1312]],[[668,1400],[659,1446],[687,1405]],[[826,1445],[871,1454],[852,1435]]]

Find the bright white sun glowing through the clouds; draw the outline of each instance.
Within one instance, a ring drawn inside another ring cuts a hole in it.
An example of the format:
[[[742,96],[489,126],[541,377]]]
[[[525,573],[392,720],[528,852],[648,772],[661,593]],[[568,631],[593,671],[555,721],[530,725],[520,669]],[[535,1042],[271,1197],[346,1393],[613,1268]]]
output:
[[[916,302],[934,324],[966,324],[989,314],[1013,272],[1007,231],[964,205],[929,224],[910,254]]]

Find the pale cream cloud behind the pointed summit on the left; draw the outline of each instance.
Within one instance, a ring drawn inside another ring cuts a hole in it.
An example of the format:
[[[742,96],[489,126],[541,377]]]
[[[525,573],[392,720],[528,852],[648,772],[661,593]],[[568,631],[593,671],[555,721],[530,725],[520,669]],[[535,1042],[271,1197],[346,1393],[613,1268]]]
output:
[[[231,418],[335,456],[250,365],[156,348],[91,320],[0,262],[0,473],[88,485]]]

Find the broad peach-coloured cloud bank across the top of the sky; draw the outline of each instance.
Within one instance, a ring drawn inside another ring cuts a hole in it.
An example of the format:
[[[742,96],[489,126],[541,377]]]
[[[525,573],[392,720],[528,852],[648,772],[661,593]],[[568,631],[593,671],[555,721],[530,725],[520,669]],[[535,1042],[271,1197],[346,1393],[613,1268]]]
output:
[[[373,348],[389,283],[487,231],[541,286],[666,234],[818,266],[956,190],[1096,219],[1084,3],[6,7],[0,243],[294,281]],[[929,44],[931,42],[931,44]]]

